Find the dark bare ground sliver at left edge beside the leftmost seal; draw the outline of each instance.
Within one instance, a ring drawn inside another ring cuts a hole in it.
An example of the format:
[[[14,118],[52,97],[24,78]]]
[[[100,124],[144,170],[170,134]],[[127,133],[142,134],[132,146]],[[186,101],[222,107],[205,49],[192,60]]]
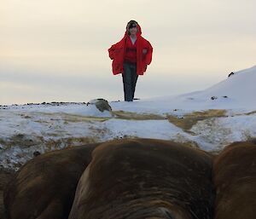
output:
[[[0,218],[6,219],[3,206],[3,189],[14,174],[13,170],[0,168]]]

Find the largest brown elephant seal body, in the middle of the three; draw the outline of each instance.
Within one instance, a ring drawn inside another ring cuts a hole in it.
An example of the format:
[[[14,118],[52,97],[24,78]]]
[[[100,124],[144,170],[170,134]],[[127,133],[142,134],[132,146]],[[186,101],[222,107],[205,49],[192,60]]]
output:
[[[212,218],[212,157],[171,141],[109,141],[79,180],[69,219]]]

